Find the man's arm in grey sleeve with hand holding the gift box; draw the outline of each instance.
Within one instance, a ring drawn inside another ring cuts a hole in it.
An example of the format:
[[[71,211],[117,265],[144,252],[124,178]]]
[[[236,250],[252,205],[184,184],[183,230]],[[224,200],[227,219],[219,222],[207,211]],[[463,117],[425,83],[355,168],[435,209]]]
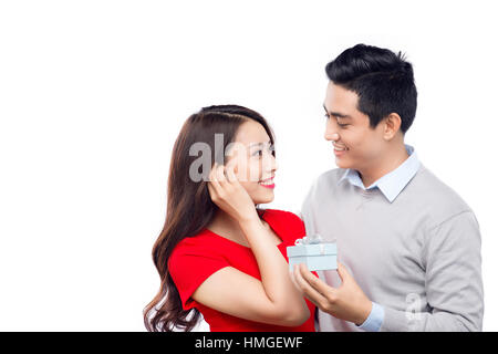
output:
[[[430,312],[421,312],[422,309],[413,305],[406,309],[383,305],[384,319],[380,330],[481,331],[480,232],[474,214],[460,212],[429,231],[424,249],[424,266]],[[356,324],[365,323],[367,320],[364,320],[372,313],[373,303],[345,268],[338,266],[342,280],[338,289],[315,278],[304,264],[294,269],[294,277],[307,298],[320,310]],[[413,295],[416,300],[417,294]],[[367,309],[366,304],[371,308]],[[364,316],[363,321],[355,321],[361,316]]]

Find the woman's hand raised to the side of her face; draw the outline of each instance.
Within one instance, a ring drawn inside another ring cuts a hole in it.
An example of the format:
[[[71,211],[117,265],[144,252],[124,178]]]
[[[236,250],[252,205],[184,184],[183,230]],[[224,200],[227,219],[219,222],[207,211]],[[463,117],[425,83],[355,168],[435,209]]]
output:
[[[225,167],[215,163],[209,174],[208,190],[212,202],[239,223],[259,219],[255,202],[230,165]]]

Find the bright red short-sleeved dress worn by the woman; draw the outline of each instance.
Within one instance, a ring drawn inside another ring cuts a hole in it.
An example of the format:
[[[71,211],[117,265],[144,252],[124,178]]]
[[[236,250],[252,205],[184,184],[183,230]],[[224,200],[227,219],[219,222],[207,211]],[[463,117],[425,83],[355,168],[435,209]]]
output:
[[[293,246],[298,238],[305,236],[304,223],[297,215],[276,209],[267,209],[262,219],[282,239],[278,248],[289,262],[287,247]],[[178,289],[184,310],[191,308],[199,310],[212,332],[314,332],[315,306],[308,299],[305,302],[310,309],[310,317],[302,325],[291,327],[231,316],[190,298],[206,279],[225,267],[234,267],[261,281],[258,263],[250,248],[208,229],[195,237],[183,239],[168,260],[169,274]]]

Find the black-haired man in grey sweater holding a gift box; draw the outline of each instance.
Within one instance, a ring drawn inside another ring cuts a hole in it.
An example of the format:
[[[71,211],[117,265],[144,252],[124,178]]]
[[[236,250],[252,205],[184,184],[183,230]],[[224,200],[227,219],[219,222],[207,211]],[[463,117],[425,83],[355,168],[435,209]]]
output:
[[[339,269],[293,272],[319,308],[318,330],[481,331],[478,222],[404,144],[412,64],[359,44],[325,71],[325,139],[339,168],[315,180],[302,218],[308,235],[336,242]]]

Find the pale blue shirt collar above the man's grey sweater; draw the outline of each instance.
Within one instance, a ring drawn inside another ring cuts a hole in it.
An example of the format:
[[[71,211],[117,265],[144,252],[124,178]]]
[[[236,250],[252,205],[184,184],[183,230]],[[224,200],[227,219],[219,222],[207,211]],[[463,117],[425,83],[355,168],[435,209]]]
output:
[[[355,169],[346,169],[344,175],[339,179],[338,184],[346,179],[351,185],[370,190],[378,188],[390,202],[400,195],[421,167],[417,154],[413,146],[405,145],[408,158],[403,162],[396,169],[378,178],[374,184],[365,188],[359,173]]]

